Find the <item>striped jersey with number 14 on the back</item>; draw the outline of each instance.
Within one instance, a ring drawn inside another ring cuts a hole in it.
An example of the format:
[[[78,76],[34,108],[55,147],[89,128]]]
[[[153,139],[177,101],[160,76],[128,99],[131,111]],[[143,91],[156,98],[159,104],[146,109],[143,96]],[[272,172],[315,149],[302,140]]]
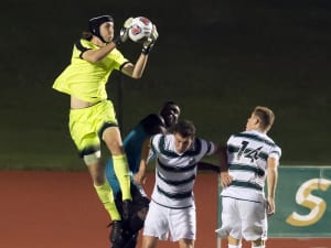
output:
[[[281,149],[267,134],[252,130],[231,136],[227,161],[233,182],[223,188],[221,195],[260,201],[264,197],[269,157],[279,160]]]

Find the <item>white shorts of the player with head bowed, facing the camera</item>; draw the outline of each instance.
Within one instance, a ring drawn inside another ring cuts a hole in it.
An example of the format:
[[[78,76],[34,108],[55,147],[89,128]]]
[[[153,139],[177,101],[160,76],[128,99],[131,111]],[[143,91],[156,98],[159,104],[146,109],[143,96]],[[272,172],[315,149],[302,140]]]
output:
[[[167,240],[169,233],[171,241],[178,241],[183,238],[195,240],[195,207],[173,209],[151,201],[145,220],[143,236]]]

